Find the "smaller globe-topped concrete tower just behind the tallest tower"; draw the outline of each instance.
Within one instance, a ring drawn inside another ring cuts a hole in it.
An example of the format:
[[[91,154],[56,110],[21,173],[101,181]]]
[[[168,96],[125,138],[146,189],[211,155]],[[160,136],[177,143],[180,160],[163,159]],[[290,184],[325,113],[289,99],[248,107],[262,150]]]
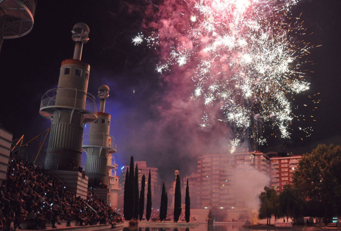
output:
[[[91,123],[90,133],[84,135],[82,146],[87,152],[85,172],[89,176],[89,186],[94,188],[98,188],[100,181],[108,185],[108,155],[116,152],[115,138],[109,134],[111,116],[104,112],[109,87],[101,85],[98,96],[101,99],[99,112],[96,113],[98,119]]]

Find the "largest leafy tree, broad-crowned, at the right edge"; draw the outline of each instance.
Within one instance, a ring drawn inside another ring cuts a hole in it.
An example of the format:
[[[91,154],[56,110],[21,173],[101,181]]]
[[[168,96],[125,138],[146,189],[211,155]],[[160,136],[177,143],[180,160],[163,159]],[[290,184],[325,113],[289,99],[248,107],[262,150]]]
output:
[[[341,145],[318,145],[300,159],[294,172],[294,185],[309,201],[314,217],[323,216],[327,224],[333,215],[340,214]],[[321,214],[322,212],[322,214]]]

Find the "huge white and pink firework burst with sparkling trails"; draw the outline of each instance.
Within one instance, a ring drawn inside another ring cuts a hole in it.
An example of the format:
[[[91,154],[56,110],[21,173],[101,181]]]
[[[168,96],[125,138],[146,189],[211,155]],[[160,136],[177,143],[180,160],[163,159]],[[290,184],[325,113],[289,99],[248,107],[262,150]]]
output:
[[[161,74],[193,69],[191,98],[206,112],[219,103],[219,120],[235,131],[230,151],[247,138],[256,149],[266,143],[265,129],[290,138],[293,96],[309,89],[301,69],[312,46],[292,36],[306,29],[289,16],[298,1],[168,0],[146,23],[154,32],[133,43],[160,49]],[[211,119],[204,113],[199,126]]]

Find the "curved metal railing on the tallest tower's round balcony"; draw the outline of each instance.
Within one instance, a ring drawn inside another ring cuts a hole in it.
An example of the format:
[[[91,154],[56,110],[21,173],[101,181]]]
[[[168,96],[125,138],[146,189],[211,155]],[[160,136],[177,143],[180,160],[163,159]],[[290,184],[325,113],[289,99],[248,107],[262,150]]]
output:
[[[57,90],[68,90],[74,97],[60,97],[57,98]],[[77,98],[77,95],[85,95],[85,102],[82,99]],[[78,110],[89,111],[91,113],[97,112],[96,98],[90,93],[86,93],[76,88],[54,88],[48,90],[42,97],[40,103],[40,110],[46,107],[70,107]]]

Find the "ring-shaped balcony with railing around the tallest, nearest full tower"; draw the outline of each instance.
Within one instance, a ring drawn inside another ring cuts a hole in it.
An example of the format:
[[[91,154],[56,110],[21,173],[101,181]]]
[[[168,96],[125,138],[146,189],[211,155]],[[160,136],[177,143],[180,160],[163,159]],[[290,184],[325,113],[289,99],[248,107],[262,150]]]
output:
[[[56,111],[74,111],[82,115],[82,122],[87,123],[97,119],[96,98],[90,93],[76,88],[54,88],[48,90],[40,102],[39,113],[52,119]]]

